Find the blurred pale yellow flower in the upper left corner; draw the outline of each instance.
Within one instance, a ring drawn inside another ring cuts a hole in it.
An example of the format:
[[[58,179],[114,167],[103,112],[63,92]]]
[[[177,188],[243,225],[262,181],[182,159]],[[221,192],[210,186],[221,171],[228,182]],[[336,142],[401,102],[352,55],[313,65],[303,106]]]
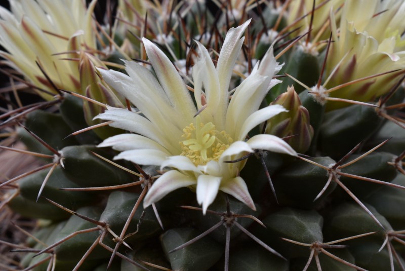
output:
[[[77,58],[64,52],[95,50],[93,9],[97,0],[86,8],[82,0],[9,0],[11,12],[0,7],[0,56],[33,85],[56,94],[38,68],[37,61],[58,88],[80,89],[78,64],[61,60]],[[53,95],[41,93],[45,99]]]

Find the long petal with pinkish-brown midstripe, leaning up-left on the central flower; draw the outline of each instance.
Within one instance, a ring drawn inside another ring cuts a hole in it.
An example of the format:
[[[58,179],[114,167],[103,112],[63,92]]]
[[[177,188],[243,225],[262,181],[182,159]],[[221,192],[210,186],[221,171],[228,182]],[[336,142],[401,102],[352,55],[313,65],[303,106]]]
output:
[[[173,107],[182,115],[192,118],[196,109],[179,72],[156,45],[146,38],[142,38],[142,41],[160,85],[165,90]]]

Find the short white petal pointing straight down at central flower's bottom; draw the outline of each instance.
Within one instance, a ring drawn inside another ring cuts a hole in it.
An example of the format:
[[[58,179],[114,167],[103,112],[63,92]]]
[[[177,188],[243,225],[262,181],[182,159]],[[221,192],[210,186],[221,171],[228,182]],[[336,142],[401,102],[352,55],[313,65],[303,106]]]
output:
[[[201,174],[197,179],[197,202],[203,204],[203,214],[206,214],[208,206],[215,200],[218,194],[221,177]]]

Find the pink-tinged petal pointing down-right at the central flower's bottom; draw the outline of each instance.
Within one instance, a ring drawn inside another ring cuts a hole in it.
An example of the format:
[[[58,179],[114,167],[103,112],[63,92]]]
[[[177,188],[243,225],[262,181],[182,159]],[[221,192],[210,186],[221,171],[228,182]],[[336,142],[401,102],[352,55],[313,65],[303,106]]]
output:
[[[219,188],[221,191],[235,197],[235,199],[245,203],[247,206],[256,211],[255,203],[250,196],[248,186],[241,177],[235,177],[233,179],[223,181]]]

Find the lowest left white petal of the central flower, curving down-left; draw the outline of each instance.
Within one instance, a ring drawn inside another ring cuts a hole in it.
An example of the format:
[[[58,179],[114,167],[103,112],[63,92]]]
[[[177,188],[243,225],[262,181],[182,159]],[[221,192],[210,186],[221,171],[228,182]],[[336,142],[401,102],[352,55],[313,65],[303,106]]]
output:
[[[179,189],[181,187],[193,185],[196,183],[195,179],[192,179],[184,174],[181,174],[177,170],[171,170],[161,175],[150,187],[148,193],[143,200],[143,208],[148,207],[152,203],[155,203],[168,195],[171,191]]]

